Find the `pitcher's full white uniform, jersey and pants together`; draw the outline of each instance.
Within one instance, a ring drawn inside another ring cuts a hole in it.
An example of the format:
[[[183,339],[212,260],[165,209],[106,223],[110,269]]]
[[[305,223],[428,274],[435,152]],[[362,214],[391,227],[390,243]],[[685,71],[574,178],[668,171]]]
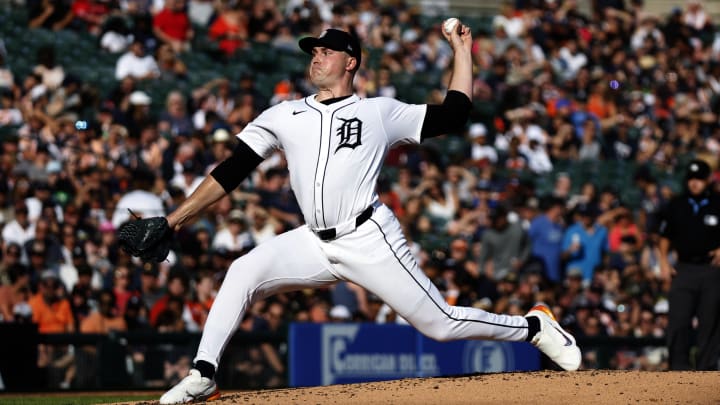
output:
[[[391,146],[420,142],[425,105],[353,95],[329,106],[314,96],[262,113],[238,137],[258,155],[285,151],[290,182],[306,224],[236,259],[208,315],[195,361],[217,367],[254,300],[278,292],[352,281],[437,340],[521,341],[522,316],[451,306],[418,266],[399,221],[377,201],[375,181]],[[372,215],[360,226],[357,216]],[[350,224],[349,226],[344,226]],[[323,240],[318,229],[341,228]]]

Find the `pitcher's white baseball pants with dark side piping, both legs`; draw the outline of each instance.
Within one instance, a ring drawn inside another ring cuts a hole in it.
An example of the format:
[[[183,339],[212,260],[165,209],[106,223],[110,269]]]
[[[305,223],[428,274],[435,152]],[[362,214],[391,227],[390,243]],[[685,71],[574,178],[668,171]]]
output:
[[[301,226],[235,260],[208,315],[195,361],[218,366],[253,301],[338,280],[374,293],[432,339],[523,341],[527,337],[522,316],[447,304],[415,262],[400,223],[381,205],[355,232],[338,239],[320,240]]]

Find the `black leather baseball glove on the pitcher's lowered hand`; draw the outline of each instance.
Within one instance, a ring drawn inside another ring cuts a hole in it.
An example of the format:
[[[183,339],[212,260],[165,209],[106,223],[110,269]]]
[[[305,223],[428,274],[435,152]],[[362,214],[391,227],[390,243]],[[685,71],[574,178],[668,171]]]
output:
[[[165,217],[128,221],[118,229],[118,243],[129,255],[159,263],[170,252],[173,232]]]

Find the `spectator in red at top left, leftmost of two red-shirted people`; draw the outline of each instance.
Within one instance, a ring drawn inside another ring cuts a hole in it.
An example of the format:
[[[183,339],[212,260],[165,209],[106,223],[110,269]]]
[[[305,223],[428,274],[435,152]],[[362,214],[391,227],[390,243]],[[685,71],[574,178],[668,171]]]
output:
[[[175,52],[190,50],[195,35],[185,8],[185,0],[167,0],[165,7],[153,18],[153,33]]]

